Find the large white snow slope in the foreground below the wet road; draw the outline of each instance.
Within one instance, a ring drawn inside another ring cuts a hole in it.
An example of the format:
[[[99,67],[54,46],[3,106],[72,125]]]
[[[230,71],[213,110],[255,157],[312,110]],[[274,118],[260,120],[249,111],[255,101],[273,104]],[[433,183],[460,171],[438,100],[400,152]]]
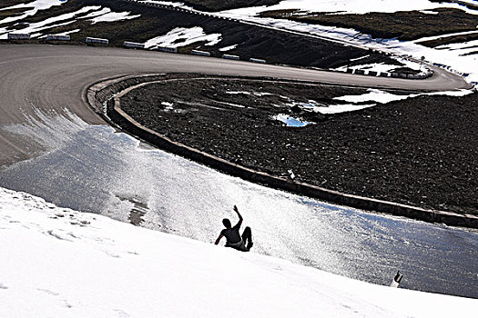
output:
[[[0,188],[1,317],[474,317],[478,300],[373,285]]]

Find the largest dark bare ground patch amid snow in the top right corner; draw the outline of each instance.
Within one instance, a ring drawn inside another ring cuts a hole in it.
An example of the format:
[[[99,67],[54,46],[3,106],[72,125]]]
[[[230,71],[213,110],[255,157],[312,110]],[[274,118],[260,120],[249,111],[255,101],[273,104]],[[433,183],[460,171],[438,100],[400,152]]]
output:
[[[358,30],[374,38],[396,37],[402,41],[476,30],[478,24],[476,15],[450,8],[434,9],[433,11],[438,12],[438,15],[427,15],[419,11],[365,15],[328,15],[325,13],[303,15],[297,10],[280,10],[264,12],[261,16],[287,18],[316,25],[341,26]]]

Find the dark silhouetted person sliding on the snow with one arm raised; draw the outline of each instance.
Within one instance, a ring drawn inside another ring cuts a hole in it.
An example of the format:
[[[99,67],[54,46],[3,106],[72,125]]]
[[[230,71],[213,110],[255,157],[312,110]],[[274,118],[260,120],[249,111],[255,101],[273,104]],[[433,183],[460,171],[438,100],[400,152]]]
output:
[[[221,238],[226,237],[226,247],[232,247],[238,251],[242,252],[249,252],[250,248],[252,247],[252,233],[250,231],[250,227],[247,226],[244,229],[244,233],[242,235],[239,234],[239,229],[240,225],[242,224],[242,216],[239,214],[238,207],[234,205],[234,211],[238,214],[239,216],[239,222],[238,224],[234,225],[234,227],[231,227],[229,219],[223,219],[222,224],[226,227],[223,229],[220,234],[218,239],[216,240],[215,244],[219,244],[219,241]],[[247,242],[247,244],[246,244]]]

